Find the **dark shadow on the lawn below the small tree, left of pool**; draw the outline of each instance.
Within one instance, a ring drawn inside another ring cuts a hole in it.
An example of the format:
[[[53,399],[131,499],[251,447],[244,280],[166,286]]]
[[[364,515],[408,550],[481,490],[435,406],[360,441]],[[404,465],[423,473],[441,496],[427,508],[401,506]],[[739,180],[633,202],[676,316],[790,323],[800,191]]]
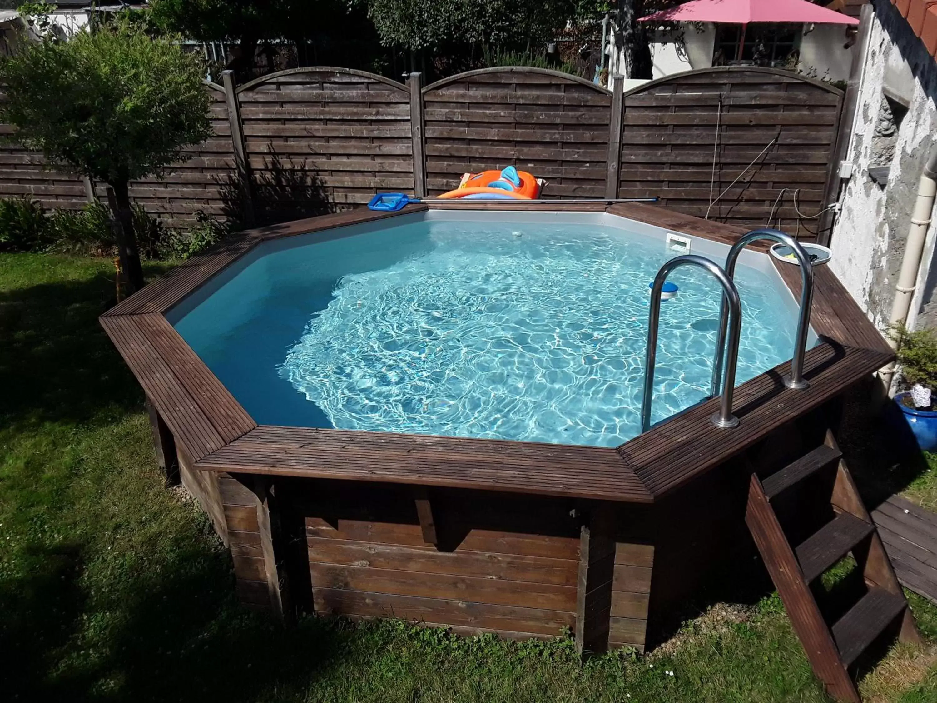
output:
[[[141,408],[139,384],[97,322],[116,302],[109,265],[102,260],[87,277],[0,292],[0,419],[6,424],[83,423],[109,406]],[[148,278],[170,267],[150,263]]]

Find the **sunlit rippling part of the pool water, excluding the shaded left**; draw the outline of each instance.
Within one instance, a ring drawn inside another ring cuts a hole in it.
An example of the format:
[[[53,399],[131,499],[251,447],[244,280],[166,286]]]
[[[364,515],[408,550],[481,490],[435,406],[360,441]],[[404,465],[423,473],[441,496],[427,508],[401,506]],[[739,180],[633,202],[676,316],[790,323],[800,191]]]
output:
[[[568,228],[567,228],[568,230]],[[342,277],[280,375],[335,427],[612,446],[639,431],[647,283],[667,255],[602,232],[434,232],[429,253]],[[738,381],[790,357],[793,320],[739,270]],[[706,395],[719,297],[672,276],[654,420]]]

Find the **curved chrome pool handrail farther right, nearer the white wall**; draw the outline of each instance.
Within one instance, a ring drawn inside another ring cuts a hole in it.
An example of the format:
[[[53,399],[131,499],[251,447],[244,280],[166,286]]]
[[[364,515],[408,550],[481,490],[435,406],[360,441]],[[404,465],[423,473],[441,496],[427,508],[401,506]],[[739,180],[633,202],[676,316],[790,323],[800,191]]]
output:
[[[797,334],[794,340],[794,357],[791,360],[791,374],[784,377],[784,385],[788,388],[803,390],[810,387],[810,383],[804,380],[804,354],[807,352],[807,337],[811,331],[811,305],[813,302],[813,264],[804,247],[801,247],[796,239],[790,234],[785,234],[778,230],[752,230],[743,234],[739,240],[729,249],[729,255],[725,258],[725,273],[735,281],[736,261],[742,249],[750,245],[751,242],[757,242],[761,239],[769,239],[774,242],[781,242],[788,247],[796,256],[797,263],[800,264],[800,316],[797,319]],[[722,373],[723,349],[725,347],[725,296],[722,296],[720,309],[719,333],[716,336],[716,364],[712,369],[712,385],[710,393],[715,396],[719,388],[720,376]]]

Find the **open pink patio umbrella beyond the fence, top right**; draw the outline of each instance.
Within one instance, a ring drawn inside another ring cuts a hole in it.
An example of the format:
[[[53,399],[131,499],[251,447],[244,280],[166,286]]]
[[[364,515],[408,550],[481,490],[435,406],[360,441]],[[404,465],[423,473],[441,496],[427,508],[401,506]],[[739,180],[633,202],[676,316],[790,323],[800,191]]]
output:
[[[638,22],[724,22],[741,24],[738,54],[741,59],[745,28],[750,22],[797,22],[818,24],[858,24],[859,21],[807,0],[691,0],[689,3],[662,9]]]

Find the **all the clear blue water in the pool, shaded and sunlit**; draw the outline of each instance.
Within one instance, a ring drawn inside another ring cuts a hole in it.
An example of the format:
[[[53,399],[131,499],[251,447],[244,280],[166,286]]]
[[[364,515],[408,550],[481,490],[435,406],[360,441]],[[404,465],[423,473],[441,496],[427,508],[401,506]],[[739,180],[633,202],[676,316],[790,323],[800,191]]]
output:
[[[271,247],[175,326],[261,424],[614,446],[640,431],[672,256],[595,224],[416,222]],[[654,422],[705,398],[719,314],[703,272],[671,280]],[[742,382],[790,358],[796,320],[776,280],[736,282]]]

